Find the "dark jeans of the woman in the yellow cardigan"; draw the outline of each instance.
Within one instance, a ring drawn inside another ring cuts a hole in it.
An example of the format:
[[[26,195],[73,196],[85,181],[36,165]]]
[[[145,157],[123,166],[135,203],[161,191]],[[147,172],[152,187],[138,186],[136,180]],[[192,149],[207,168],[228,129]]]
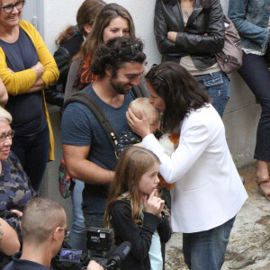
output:
[[[32,188],[39,191],[48,157],[49,157],[49,128],[32,136],[14,136],[12,150],[20,159],[26,175],[29,176]]]

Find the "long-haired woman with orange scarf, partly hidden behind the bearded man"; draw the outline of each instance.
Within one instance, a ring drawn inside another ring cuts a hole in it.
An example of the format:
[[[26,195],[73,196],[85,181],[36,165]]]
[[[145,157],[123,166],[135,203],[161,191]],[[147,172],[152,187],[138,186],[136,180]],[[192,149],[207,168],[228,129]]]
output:
[[[67,77],[65,99],[84,89],[96,79],[91,64],[97,49],[117,37],[135,38],[135,28],[130,13],[120,4],[107,4],[96,17],[93,31],[87,36],[81,50],[72,62]]]

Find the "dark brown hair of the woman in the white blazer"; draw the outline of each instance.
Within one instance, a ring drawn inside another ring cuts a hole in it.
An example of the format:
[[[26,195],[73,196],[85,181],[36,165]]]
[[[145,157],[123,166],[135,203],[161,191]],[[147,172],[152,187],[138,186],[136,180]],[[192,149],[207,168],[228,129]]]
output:
[[[151,67],[146,80],[165,102],[163,131],[173,131],[189,112],[210,102],[200,83],[175,62],[163,62]]]

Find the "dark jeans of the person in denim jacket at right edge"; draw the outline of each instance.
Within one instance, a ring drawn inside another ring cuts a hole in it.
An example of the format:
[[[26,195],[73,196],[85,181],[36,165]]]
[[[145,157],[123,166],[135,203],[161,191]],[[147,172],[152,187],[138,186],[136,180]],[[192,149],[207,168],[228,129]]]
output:
[[[266,59],[254,54],[243,54],[243,66],[238,70],[261,104],[262,113],[257,126],[254,158],[270,162],[270,72]]]

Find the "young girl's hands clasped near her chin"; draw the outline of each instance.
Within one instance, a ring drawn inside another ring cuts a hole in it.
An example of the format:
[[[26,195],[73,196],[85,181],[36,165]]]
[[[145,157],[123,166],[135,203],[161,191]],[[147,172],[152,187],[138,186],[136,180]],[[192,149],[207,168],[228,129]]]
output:
[[[157,217],[161,218],[161,211],[164,208],[164,200],[157,197],[157,190],[153,190],[152,193],[145,194],[143,196],[143,207],[146,212],[152,213]]]

